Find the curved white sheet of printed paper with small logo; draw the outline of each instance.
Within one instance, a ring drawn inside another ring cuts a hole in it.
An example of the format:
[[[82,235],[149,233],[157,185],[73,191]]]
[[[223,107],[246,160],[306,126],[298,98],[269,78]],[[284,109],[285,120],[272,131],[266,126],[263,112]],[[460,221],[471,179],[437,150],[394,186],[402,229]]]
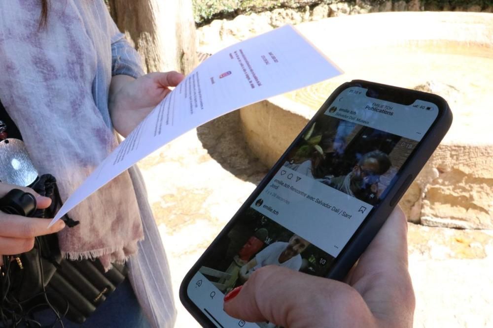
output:
[[[342,72],[292,26],[232,45],[200,64],[65,201],[50,225],[136,162],[205,122]]]

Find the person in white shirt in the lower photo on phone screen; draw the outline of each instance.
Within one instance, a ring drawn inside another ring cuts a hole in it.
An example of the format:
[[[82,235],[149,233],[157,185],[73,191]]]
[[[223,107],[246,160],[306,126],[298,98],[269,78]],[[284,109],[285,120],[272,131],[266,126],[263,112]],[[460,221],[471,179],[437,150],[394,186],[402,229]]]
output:
[[[276,265],[298,271],[302,265],[301,252],[310,242],[298,235],[293,235],[287,242],[277,241],[258,252],[253,259],[240,269],[240,278],[248,280],[256,269]]]

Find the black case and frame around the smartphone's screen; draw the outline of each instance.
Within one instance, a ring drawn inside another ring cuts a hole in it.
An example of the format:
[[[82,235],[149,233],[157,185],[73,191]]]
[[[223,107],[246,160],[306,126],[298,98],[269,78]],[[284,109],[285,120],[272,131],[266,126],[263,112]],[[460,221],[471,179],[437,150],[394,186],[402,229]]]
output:
[[[394,95],[391,98],[383,97],[378,99],[389,100],[394,102],[406,103],[412,99],[420,99],[424,101],[429,101],[438,106],[438,116],[430,126],[423,139],[418,144],[418,146],[411,153],[409,158],[406,160],[404,165],[401,167],[398,174],[393,178],[393,182],[389,188],[385,191],[385,196],[383,197],[380,204],[375,206],[368,216],[363,220],[359,228],[356,230],[352,238],[348,241],[346,246],[340,252],[339,256],[331,264],[330,271],[326,275],[327,278],[342,280],[352,268],[354,263],[359,259],[361,254],[364,252],[366,247],[370,244],[373,238],[376,236],[380,228],[383,226],[387,220],[388,215],[397,205],[401,197],[404,195],[408,187],[423,169],[426,161],[433,154],[433,151],[438,147],[443,137],[447,133],[452,124],[452,112],[449,105],[442,97],[426,93],[422,91],[404,89],[399,87],[387,86],[384,84],[368,82],[363,80],[353,80],[339,86],[335,89],[332,94],[325,100],[317,113],[313,118],[307,123],[303,130],[294,139],[291,145],[284,151],[280,159],[274,164],[267,175],[258,184],[257,188],[251,193],[251,195],[246,199],[245,203],[240,209],[235,213],[233,218],[228,222],[228,224],[223,228],[219,235],[212,241],[211,245],[206,249],[204,254],[199,258],[199,260],[194,264],[194,266],[187,272],[183,281],[180,285],[179,296],[183,306],[192,314],[192,316],[199,322],[202,327],[216,327],[215,324],[204,314],[202,311],[190,300],[187,295],[187,286],[189,285],[193,275],[201,267],[206,254],[213,251],[214,246],[220,240],[224,234],[226,234],[231,227],[234,225],[236,218],[239,213],[246,209],[251,202],[253,202],[258,194],[266,187],[267,183],[272,179],[277,170],[284,163],[283,158],[289,153],[289,151],[296,145],[296,142],[305,134],[308,127],[311,126],[312,122],[317,119],[320,115],[323,115],[328,106],[336,99],[336,97],[341,93],[342,90],[349,87],[364,87],[372,90],[383,90],[387,96]],[[409,101],[408,101],[409,100]],[[409,103],[410,104],[410,103]]]

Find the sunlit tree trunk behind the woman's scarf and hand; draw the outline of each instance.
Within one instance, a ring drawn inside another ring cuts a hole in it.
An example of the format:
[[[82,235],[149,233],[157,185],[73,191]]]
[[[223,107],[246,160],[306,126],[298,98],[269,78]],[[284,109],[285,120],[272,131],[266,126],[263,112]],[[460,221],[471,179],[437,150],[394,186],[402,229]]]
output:
[[[109,0],[118,28],[144,60],[147,72],[184,74],[197,64],[192,0]]]

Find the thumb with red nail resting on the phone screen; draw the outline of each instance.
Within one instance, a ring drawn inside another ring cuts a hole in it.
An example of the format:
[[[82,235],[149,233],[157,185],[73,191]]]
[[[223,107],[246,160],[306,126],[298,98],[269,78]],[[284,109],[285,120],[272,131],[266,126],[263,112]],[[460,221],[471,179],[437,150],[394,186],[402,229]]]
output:
[[[340,308],[334,295],[351,287],[278,266],[256,270],[245,285],[225,296],[224,310],[248,322],[269,321],[282,327],[327,327],[334,318],[327,309]],[[317,313],[317,315],[313,315]]]

